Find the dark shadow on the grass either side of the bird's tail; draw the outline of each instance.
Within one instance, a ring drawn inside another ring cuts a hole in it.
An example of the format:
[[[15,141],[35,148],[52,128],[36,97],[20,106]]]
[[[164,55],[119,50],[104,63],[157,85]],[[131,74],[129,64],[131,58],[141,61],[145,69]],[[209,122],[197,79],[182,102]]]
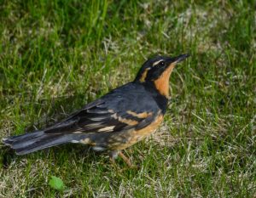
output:
[[[84,94],[79,93],[69,97],[39,100],[38,103],[32,105],[36,110],[42,110],[44,116],[41,116],[38,121],[35,121],[31,125],[26,127],[25,132],[30,133],[32,131],[35,131],[35,129],[50,127],[55,124],[55,122],[60,122],[68,115],[71,115],[76,110],[79,110],[84,106],[84,104],[86,104],[86,101],[91,101],[92,99],[93,98],[90,97],[90,95],[88,94],[87,98],[84,99]],[[83,105],[81,106],[81,104]],[[54,152],[52,152],[52,150],[54,150]],[[88,163],[90,163],[91,161],[96,161],[96,158],[99,155],[98,152],[90,150],[89,146],[82,144],[63,144],[29,155],[36,155],[38,158],[44,159],[48,157],[50,152],[54,153],[54,155],[61,155],[62,153],[66,153],[67,155],[75,158],[77,158],[77,156],[84,156],[86,157],[86,161],[88,161]],[[37,153],[40,153],[40,155],[38,155]],[[8,168],[10,163],[12,163],[12,161],[15,161],[15,159],[26,158],[27,156],[28,155],[17,156],[15,154],[15,150],[10,149],[9,146],[3,145],[0,150],[0,162],[3,168]]]

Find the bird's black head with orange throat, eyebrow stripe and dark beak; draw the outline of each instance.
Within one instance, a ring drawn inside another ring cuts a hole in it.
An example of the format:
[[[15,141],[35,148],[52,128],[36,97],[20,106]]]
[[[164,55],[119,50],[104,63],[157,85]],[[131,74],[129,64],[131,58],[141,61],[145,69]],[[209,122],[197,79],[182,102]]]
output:
[[[135,82],[153,83],[160,94],[169,96],[169,77],[177,63],[189,57],[189,54],[182,54],[177,57],[157,56],[148,59],[137,73]]]

